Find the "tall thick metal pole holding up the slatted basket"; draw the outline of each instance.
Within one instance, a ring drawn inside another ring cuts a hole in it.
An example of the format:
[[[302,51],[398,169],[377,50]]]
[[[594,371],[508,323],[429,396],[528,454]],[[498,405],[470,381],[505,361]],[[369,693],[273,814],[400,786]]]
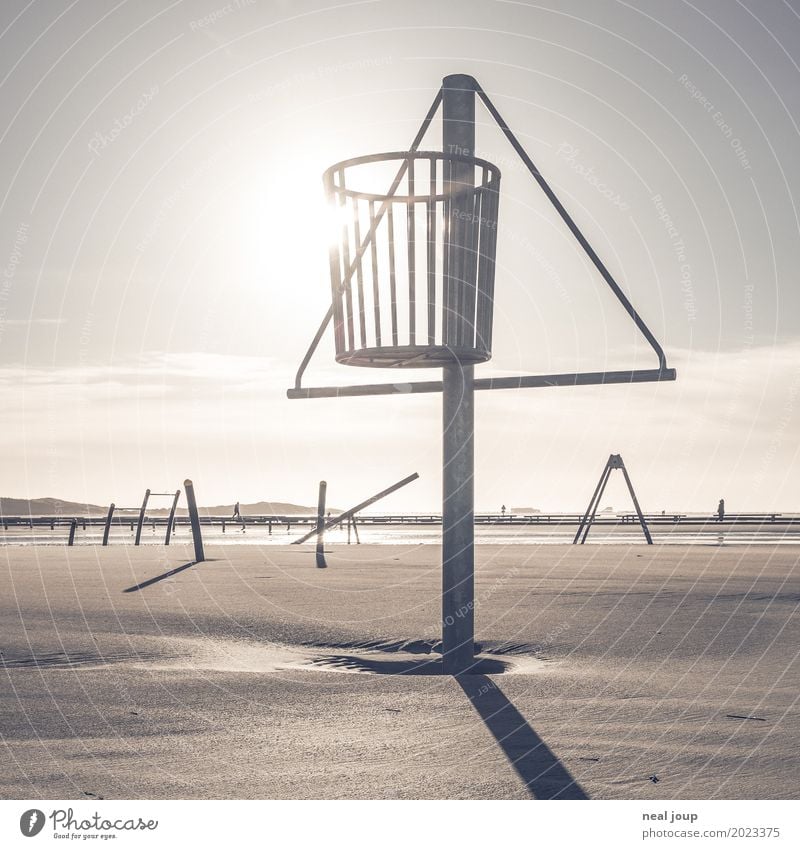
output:
[[[445,154],[475,155],[475,80],[465,74],[444,78],[442,88],[443,138]],[[474,169],[469,163],[453,163],[445,170],[445,193],[474,185]],[[460,244],[462,231],[457,204],[449,204],[448,242],[445,244],[447,277],[445,321],[448,344],[455,345],[464,331],[464,278],[460,269],[466,259],[466,245]],[[474,303],[474,299],[473,299]],[[471,324],[471,322],[470,322]],[[442,656],[444,671],[450,675],[465,672],[474,662],[474,367],[457,360],[444,366],[443,470],[442,470]]]

